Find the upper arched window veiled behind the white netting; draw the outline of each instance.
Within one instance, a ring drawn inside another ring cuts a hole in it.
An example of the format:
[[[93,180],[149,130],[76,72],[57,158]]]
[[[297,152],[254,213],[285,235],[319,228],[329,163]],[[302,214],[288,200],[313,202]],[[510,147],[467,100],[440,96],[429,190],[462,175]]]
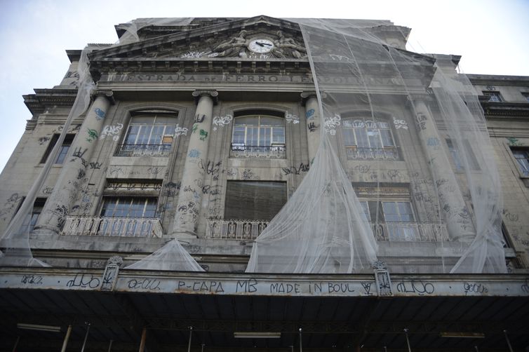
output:
[[[342,119],[342,138],[348,159],[399,160],[391,125],[386,121]]]

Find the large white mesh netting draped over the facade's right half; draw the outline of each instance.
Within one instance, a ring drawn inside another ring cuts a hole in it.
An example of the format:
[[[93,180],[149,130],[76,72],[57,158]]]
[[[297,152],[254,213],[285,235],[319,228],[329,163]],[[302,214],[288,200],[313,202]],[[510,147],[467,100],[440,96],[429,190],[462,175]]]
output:
[[[332,146],[339,143],[340,135],[347,137],[343,128],[358,123],[368,128],[364,140],[356,135],[350,143],[355,152],[369,146],[370,153],[385,153],[394,143],[384,139],[380,127],[389,123],[394,128],[409,127],[419,137],[416,142],[420,140],[429,165],[431,180],[425,183],[433,196],[427,196],[431,208],[438,213],[436,220],[446,223],[450,241],[456,241],[462,252],[451,272],[505,272],[494,152],[476,93],[464,75],[456,74],[451,57],[427,57],[389,46],[375,35],[381,32],[376,27],[384,23],[297,21],[318,93],[321,143],[300,187],[255,241],[247,271],[351,273],[375,260],[374,234],[367,216],[361,216],[361,205],[349,187],[351,180]],[[380,118],[384,114],[393,121]],[[356,116],[356,121],[347,125],[342,115]],[[454,158],[455,170],[450,158]],[[420,163],[406,164],[408,182],[418,184],[424,174],[417,166]],[[380,160],[372,165],[375,188],[380,189],[385,165]],[[380,196],[377,193],[377,204]],[[380,220],[378,208],[372,222]],[[406,211],[397,210],[390,223],[387,208],[387,229],[395,229],[396,220],[411,220],[410,214],[407,219],[402,216]],[[406,234],[406,224],[400,229]],[[435,240],[441,247],[439,264],[443,264],[445,240],[442,236]],[[415,269],[427,270],[426,265]]]

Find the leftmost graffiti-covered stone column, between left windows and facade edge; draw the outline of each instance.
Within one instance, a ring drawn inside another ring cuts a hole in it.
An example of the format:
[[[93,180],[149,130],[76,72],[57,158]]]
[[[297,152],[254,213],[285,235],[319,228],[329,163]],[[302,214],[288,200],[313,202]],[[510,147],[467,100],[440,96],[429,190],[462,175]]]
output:
[[[86,167],[98,143],[105,117],[111,103],[114,103],[112,91],[95,90],[91,107],[88,108],[83,124],[74,143],[69,148],[65,163],[44,206],[35,229],[58,233],[72,209],[86,176]]]

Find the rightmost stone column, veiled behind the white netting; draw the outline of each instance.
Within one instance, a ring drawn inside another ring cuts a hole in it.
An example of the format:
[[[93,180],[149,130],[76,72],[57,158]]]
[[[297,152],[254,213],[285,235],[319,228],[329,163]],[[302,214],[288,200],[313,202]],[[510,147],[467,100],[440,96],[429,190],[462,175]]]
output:
[[[444,151],[433,116],[422,99],[415,99],[417,130],[424,154],[431,164],[431,172],[437,186],[441,213],[446,222],[450,238],[468,242],[476,236],[461,189],[455,178],[450,160]]]

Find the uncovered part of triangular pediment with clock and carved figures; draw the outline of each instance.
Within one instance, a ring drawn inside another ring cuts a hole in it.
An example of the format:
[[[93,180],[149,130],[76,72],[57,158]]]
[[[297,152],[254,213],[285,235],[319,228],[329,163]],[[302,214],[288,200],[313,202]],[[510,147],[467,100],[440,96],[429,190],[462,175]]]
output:
[[[167,26],[164,26],[165,30]],[[307,56],[300,27],[295,22],[257,16],[145,39],[95,51],[91,61],[303,59]]]

